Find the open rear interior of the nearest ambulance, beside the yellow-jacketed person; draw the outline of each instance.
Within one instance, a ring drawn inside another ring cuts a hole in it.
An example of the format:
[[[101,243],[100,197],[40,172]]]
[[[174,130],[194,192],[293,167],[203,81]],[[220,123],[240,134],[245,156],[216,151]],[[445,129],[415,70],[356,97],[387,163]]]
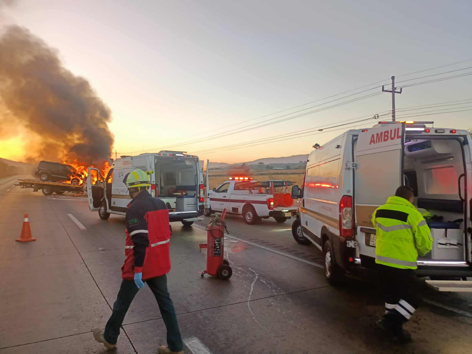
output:
[[[411,138],[410,138],[411,139]],[[414,190],[413,204],[430,212],[425,218],[433,246],[419,261],[464,261],[466,203],[464,196],[464,158],[456,139],[405,139],[404,181]],[[461,181],[459,181],[461,180]]]

